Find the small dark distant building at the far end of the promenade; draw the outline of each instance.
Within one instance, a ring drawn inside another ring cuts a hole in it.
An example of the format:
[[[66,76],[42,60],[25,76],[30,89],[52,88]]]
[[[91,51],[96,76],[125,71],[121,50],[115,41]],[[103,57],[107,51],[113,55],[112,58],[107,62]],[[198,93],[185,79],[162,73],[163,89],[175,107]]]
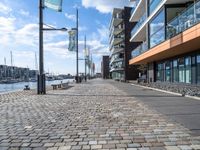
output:
[[[101,74],[103,79],[109,79],[109,56],[103,56],[101,62]]]

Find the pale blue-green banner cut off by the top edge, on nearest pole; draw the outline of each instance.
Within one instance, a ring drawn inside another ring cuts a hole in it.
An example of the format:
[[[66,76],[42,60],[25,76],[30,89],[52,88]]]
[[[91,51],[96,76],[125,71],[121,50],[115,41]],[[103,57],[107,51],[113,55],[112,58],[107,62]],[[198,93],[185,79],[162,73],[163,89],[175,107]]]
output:
[[[44,0],[44,6],[55,11],[62,11],[62,0]]]

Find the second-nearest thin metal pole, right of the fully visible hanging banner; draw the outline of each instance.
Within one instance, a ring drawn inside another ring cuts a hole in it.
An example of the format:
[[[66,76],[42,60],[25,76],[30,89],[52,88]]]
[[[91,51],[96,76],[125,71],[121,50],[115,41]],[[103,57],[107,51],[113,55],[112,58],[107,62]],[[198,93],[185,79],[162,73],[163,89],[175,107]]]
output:
[[[79,73],[78,73],[78,8],[76,9],[76,83],[79,82]]]

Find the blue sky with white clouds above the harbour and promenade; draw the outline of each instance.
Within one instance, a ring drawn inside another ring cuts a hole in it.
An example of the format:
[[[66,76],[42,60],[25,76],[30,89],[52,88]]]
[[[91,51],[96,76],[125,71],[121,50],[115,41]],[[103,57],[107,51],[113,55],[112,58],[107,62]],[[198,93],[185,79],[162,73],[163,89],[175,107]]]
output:
[[[79,58],[84,58],[84,37],[92,53],[96,72],[102,55],[109,55],[109,24],[114,7],[128,6],[129,0],[63,0],[62,12],[44,9],[44,23],[55,28],[76,27],[79,9]],[[36,69],[39,52],[38,0],[0,0],[0,64]],[[35,59],[35,54],[37,59]],[[76,53],[68,51],[68,33],[44,32],[44,68],[53,74],[75,74]],[[79,61],[84,72],[84,61]]]

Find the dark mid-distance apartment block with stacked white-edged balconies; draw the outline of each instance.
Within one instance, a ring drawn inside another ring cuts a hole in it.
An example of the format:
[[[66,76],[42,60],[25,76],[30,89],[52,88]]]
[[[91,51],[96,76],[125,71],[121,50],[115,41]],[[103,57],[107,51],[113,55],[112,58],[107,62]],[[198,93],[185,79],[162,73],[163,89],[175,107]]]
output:
[[[112,79],[127,81],[138,77],[137,66],[129,66],[131,50],[136,44],[130,42],[131,29],[135,23],[129,22],[131,8],[114,8],[110,23],[110,75]]]

